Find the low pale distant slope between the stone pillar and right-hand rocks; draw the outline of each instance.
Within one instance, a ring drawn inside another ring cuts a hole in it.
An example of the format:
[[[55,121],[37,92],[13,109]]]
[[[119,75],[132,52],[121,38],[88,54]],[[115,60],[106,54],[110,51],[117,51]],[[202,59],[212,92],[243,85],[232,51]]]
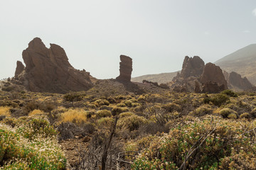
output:
[[[134,82],[142,82],[143,80],[153,81],[161,83],[170,82],[175,76],[177,72],[170,72],[170,73],[161,73],[161,74],[147,74],[141,77],[134,77],[131,81]]]

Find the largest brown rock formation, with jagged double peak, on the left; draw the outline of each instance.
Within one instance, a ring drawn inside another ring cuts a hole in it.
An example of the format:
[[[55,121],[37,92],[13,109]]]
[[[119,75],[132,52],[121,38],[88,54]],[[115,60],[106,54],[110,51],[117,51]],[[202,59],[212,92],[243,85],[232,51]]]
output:
[[[59,45],[50,44],[48,49],[40,38],[34,38],[23,50],[22,57],[25,73],[16,77],[30,91],[65,93],[92,87],[90,73],[74,69]]]

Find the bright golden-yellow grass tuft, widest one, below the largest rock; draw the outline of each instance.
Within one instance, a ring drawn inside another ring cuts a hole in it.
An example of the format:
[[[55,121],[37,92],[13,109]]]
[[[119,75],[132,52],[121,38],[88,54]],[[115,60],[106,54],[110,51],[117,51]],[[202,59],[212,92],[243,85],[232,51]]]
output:
[[[83,123],[87,120],[87,112],[81,108],[70,109],[61,114],[61,122]]]

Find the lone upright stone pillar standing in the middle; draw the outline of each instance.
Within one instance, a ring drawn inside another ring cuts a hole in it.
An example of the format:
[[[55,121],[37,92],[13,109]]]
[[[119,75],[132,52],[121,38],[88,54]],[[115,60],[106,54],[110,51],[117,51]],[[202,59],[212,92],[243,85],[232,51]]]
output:
[[[120,75],[117,77],[117,80],[121,81],[131,81],[131,76],[132,76],[132,58],[125,56],[125,55],[120,55]]]

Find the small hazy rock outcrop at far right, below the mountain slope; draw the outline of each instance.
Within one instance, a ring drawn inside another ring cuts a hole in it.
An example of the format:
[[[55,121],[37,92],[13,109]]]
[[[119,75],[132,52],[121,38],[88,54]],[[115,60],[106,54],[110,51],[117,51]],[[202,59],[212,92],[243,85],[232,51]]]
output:
[[[250,81],[246,77],[242,78],[241,75],[236,72],[230,72],[228,76],[228,84],[242,90],[252,89]]]

